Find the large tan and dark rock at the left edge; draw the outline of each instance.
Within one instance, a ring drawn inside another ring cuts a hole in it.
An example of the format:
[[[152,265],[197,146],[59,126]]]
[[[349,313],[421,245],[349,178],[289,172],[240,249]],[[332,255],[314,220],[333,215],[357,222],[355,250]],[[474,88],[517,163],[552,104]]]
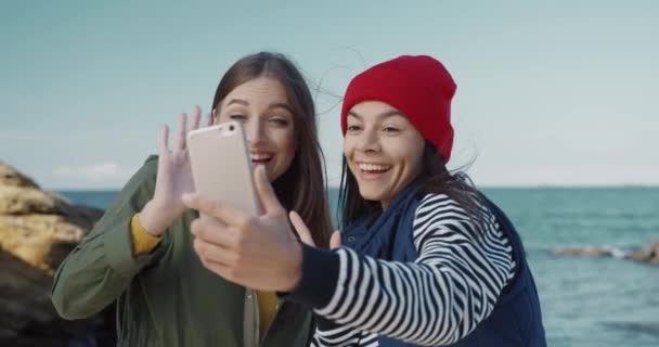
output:
[[[94,332],[107,325],[106,319],[65,321],[55,312],[50,291],[62,260],[102,214],[42,191],[0,162],[1,346],[98,345]]]

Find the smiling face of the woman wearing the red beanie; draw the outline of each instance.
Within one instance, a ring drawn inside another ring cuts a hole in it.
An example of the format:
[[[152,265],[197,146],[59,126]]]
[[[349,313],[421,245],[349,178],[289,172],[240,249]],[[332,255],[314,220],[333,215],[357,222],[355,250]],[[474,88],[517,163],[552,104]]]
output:
[[[387,103],[365,101],[348,112],[344,155],[361,196],[383,208],[418,176],[424,146],[416,128]]]

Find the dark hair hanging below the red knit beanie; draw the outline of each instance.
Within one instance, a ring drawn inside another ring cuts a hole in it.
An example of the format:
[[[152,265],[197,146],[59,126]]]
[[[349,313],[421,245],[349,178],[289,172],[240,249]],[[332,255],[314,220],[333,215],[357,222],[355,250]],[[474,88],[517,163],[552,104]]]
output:
[[[461,205],[469,217],[482,227],[483,219],[478,204],[482,201],[469,177],[460,170],[450,172],[441,154],[428,141],[426,141],[424,147],[422,166],[422,171],[414,179],[414,181],[422,182],[416,192],[417,196],[421,197],[429,193],[445,194]],[[367,201],[361,196],[357,179],[348,168],[345,156],[338,200],[339,210],[343,209],[344,211],[340,218],[341,229],[363,218],[375,217],[382,211],[379,202]]]

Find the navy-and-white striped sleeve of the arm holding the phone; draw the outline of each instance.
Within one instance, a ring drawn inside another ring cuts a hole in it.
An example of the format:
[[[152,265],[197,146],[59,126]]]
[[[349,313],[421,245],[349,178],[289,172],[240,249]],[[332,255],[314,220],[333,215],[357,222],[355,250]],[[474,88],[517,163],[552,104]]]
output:
[[[319,262],[310,265],[315,271],[337,269],[332,284],[296,293],[332,291],[322,303],[307,298],[316,314],[332,322],[319,324],[314,346],[375,346],[378,335],[437,346],[469,334],[492,312],[515,269],[507,237],[493,215],[480,209],[483,221],[475,223],[448,196],[429,194],[413,222],[416,261],[376,260],[341,247],[320,269]]]

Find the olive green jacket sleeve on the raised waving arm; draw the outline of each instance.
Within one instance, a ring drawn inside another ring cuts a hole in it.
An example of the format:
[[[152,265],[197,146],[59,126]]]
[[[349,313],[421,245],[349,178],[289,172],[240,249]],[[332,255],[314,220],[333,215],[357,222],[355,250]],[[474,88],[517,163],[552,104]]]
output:
[[[130,220],[152,198],[157,157],[151,156],[124,187],[90,233],[60,265],[52,301],[65,319],[88,318],[113,303],[144,267],[167,249],[169,237],[148,254],[134,256]]]

